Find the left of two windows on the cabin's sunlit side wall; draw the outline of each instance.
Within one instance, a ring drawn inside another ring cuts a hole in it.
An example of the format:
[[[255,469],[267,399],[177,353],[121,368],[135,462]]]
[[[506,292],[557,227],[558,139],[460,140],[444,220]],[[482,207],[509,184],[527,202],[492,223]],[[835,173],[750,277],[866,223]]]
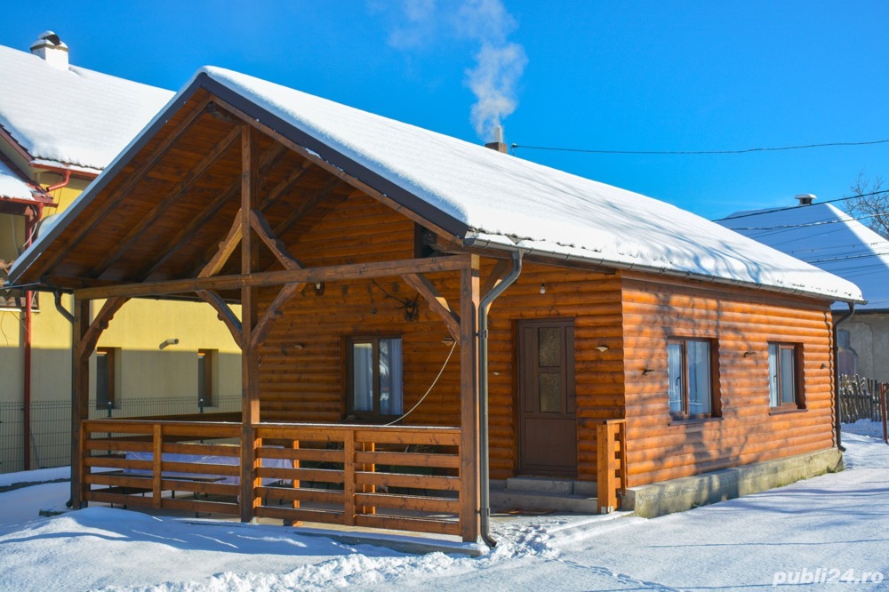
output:
[[[714,408],[711,360],[708,340],[667,342],[669,411],[674,418],[688,420],[718,414]]]

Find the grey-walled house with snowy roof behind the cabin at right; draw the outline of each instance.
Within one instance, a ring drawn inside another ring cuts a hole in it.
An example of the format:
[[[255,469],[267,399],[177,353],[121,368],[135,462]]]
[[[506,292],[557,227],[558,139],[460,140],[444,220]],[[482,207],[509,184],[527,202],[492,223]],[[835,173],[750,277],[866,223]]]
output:
[[[838,369],[889,381],[889,241],[834,204],[735,212],[719,223],[861,288],[866,304],[837,327]],[[835,317],[848,307],[837,302]]]

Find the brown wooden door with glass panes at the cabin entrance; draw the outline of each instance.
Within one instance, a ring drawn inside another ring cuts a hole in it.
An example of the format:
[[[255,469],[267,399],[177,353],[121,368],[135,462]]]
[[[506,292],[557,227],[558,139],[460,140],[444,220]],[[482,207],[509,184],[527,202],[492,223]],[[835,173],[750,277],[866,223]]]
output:
[[[519,472],[577,476],[574,321],[518,324]]]

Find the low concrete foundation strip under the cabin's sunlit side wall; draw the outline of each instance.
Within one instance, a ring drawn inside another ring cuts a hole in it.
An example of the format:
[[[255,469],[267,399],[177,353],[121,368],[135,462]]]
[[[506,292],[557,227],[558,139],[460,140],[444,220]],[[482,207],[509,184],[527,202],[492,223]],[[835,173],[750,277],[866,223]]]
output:
[[[737,468],[631,487],[621,509],[654,518],[742,495],[763,492],[824,473],[843,470],[843,454],[829,448],[786,459],[766,460]]]

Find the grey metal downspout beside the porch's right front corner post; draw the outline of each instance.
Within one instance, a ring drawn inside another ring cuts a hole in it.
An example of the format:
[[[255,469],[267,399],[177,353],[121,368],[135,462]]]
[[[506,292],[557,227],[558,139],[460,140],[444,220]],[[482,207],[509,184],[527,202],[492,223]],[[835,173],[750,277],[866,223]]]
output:
[[[497,541],[493,540],[490,528],[491,518],[491,483],[488,467],[488,309],[493,301],[509,288],[522,273],[522,255],[520,250],[512,253],[512,269],[500,284],[482,297],[478,306],[478,404],[480,415],[478,421],[478,472],[479,472],[479,513],[481,516],[482,540],[489,548],[494,548]]]

